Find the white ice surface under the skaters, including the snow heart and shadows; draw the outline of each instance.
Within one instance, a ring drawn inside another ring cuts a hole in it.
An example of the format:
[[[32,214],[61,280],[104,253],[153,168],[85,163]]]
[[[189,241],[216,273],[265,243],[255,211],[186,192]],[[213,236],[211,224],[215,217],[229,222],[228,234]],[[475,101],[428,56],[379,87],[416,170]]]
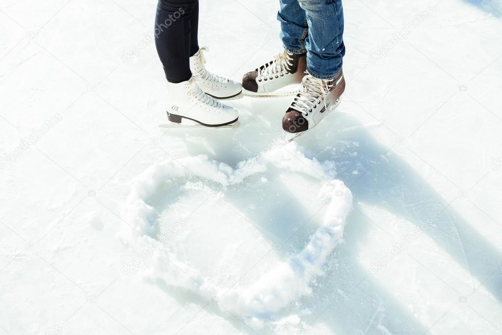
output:
[[[346,1],[288,145],[289,98],[157,127],[155,6],[0,3],[0,335],[502,333],[500,1]],[[214,72],[281,48],[276,1],[200,6]]]

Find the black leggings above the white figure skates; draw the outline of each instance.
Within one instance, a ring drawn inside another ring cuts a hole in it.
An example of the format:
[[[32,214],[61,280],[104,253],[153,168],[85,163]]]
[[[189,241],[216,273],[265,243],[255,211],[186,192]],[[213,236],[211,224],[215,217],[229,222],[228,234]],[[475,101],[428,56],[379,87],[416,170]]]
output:
[[[199,1],[159,0],[155,46],[169,82],[190,79],[190,60],[199,50]]]

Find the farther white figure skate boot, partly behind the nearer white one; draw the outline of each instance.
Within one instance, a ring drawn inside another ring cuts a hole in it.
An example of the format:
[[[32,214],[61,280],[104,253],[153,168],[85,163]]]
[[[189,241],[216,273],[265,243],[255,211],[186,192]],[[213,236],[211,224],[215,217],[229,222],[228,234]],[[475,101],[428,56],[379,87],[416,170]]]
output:
[[[202,47],[195,55],[190,57],[190,70],[199,87],[206,93],[217,99],[228,99],[242,92],[242,86],[230,79],[212,74],[206,69],[206,59],[203,51],[209,51]]]

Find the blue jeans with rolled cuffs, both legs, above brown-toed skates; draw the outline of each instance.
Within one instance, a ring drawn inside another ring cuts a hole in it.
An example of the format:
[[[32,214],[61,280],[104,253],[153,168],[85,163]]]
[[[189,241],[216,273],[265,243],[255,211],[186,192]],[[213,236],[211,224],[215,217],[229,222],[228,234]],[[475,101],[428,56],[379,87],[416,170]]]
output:
[[[316,78],[331,79],[342,68],[343,7],[341,0],[280,0],[284,48],[307,52],[307,70]]]

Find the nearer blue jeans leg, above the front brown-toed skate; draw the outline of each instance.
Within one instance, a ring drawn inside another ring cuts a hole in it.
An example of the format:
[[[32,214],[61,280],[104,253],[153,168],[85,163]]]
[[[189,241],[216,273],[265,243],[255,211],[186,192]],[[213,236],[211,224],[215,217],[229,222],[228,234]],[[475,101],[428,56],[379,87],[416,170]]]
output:
[[[343,7],[341,0],[298,0],[307,14],[309,33],[307,71],[316,78],[332,79],[342,68]]]

